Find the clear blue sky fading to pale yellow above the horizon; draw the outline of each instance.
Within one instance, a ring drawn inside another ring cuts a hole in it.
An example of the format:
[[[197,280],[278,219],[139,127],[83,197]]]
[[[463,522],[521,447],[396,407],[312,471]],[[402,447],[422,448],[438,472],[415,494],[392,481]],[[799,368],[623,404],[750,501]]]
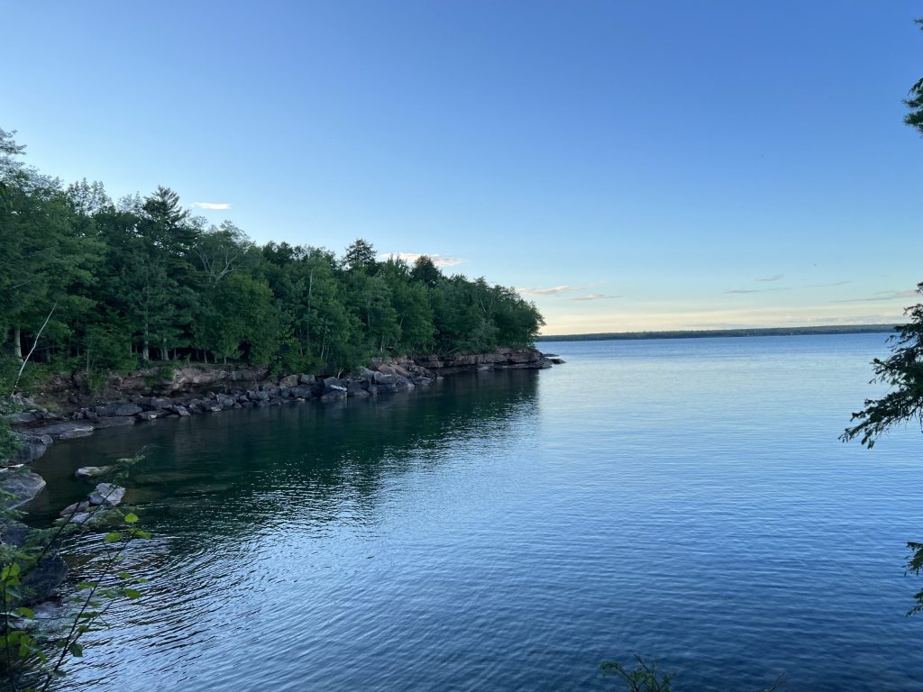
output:
[[[900,321],[923,3],[0,0],[0,127],[257,243],[358,237],[545,334]]]

